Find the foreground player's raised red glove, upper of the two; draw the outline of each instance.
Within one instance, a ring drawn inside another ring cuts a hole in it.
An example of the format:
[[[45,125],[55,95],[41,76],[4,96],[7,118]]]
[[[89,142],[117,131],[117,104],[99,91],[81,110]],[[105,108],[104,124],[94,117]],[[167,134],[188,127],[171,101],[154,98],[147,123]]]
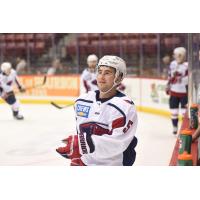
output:
[[[64,141],[66,143],[66,146],[59,147],[58,149],[56,149],[56,151],[65,158],[80,158],[81,154],[79,152],[78,135],[71,135]]]

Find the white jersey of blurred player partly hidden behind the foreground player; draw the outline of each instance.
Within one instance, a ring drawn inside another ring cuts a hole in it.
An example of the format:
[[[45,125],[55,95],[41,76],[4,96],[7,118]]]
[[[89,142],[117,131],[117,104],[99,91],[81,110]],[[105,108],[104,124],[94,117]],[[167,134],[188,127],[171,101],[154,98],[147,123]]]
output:
[[[88,69],[85,69],[81,75],[81,81],[86,92],[98,90],[95,72],[90,72]]]

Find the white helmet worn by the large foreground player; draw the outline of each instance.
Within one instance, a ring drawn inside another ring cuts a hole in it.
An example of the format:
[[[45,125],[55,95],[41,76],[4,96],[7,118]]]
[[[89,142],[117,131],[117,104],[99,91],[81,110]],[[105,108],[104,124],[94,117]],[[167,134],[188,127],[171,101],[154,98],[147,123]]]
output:
[[[126,76],[126,63],[125,61],[118,56],[103,56],[97,65],[97,68],[100,66],[107,66],[116,69],[115,77],[117,78],[119,75],[122,75],[122,79]]]

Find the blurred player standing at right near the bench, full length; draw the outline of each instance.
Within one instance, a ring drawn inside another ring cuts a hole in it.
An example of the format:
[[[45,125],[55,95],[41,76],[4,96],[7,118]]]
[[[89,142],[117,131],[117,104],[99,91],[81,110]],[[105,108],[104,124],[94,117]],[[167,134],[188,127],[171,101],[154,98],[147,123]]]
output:
[[[186,49],[184,47],[175,48],[174,58],[175,60],[171,62],[169,67],[166,92],[170,95],[169,106],[173,133],[177,134],[179,105],[181,106],[181,114],[184,115],[188,102],[188,63],[185,62]]]

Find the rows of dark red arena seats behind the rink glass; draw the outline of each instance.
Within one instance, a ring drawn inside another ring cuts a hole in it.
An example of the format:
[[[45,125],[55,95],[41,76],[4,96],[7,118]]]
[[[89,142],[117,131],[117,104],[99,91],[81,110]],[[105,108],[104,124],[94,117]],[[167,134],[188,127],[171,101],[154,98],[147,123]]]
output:
[[[52,54],[53,42],[56,46],[61,41],[60,39],[65,41],[67,35],[67,33],[0,34],[0,55],[3,55],[4,59],[10,60],[10,58],[16,57],[27,58],[29,53],[32,65],[44,64],[45,62],[48,65],[51,62],[51,57],[48,56]],[[156,66],[155,55],[158,50],[158,38],[155,33],[79,33],[74,36],[67,42],[61,43],[63,46],[60,47],[65,48],[66,57],[70,57],[73,63],[77,64],[76,59],[79,58],[81,67],[85,66],[85,58],[89,54],[122,56],[128,65],[137,67],[140,62],[140,52],[143,54],[145,67]],[[184,46],[186,44],[185,37],[185,34],[160,34],[160,55],[172,54],[175,47]],[[61,52],[60,49],[59,52]],[[77,53],[79,53],[78,57]],[[68,64],[70,65],[70,63]]]

